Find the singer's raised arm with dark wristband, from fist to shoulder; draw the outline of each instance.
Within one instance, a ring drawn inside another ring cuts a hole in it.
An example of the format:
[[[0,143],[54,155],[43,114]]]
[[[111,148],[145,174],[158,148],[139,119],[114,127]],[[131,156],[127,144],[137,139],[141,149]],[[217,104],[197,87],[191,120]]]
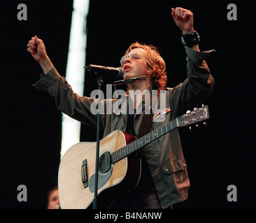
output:
[[[206,57],[215,50],[200,52],[199,41],[194,39],[193,13],[184,8],[171,8],[171,15],[182,35],[188,37],[185,46],[187,53],[187,79],[173,88],[173,107],[176,115],[183,114],[187,109],[201,105],[211,93],[214,79],[206,64]]]

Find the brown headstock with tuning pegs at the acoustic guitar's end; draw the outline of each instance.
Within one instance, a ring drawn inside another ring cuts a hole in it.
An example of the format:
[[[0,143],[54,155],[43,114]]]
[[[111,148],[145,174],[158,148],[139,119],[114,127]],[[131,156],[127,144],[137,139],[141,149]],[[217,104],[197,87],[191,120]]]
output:
[[[192,112],[187,111],[186,114],[183,114],[180,117],[181,118],[179,119],[178,125],[181,127],[194,125],[195,123],[199,123],[201,121],[206,121],[208,118],[210,118],[208,105],[202,106],[200,108],[194,108]]]

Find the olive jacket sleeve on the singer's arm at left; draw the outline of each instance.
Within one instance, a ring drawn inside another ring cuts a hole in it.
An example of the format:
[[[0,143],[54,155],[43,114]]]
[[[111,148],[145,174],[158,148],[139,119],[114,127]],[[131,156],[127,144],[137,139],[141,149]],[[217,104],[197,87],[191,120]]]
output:
[[[73,91],[64,77],[59,75],[55,68],[33,85],[52,97],[55,97],[57,108],[64,114],[87,125],[97,126],[97,114],[92,114],[91,105],[97,105],[96,98],[80,96]],[[101,128],[104,126],[104,112],[101,114]]]

